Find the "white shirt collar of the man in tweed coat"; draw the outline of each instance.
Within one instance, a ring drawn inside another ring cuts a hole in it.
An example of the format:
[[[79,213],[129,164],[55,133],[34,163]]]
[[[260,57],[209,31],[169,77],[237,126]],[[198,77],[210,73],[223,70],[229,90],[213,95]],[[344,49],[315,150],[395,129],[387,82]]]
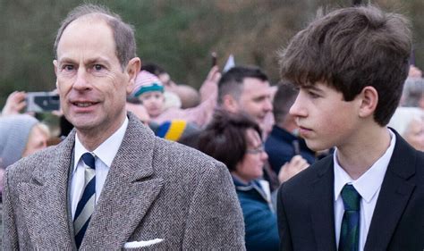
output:
[[[109,138],[107,138],[98,148],[96,148],[92,154],[96,155],[98,159],[105,163],[106,166],[110,167],[112,162],[114,161],[114,156],[119,150],[121,143],[123,142],[123,136],[125,135],[125,131],[128,127],[128,118],[125,116],[125,120],[121,127],[114,132]],[[84,146],[82,146],[80,139],[75,134],[75,155],[73,162],[73,171],[77,167],[78,162],[81,159],[81,155],[89,152]]]

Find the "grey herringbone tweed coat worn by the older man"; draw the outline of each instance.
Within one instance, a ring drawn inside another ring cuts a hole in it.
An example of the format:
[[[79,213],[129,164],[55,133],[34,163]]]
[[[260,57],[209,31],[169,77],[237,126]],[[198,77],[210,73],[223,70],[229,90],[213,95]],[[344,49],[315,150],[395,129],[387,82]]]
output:
[[[225,165],[129,117],[81,250],[155,238],[164,240],[146,249],[244,249],[242,210]],[[74,138],[72,131],[7,169],[5,250],[75,249],[67,193]]]

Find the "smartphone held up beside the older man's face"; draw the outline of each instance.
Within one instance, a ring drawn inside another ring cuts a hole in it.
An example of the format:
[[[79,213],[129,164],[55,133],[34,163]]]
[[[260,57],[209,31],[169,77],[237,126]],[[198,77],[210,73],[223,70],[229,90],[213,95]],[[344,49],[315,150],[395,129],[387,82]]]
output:
[[[27,112],[43,113],[60,109],[59,95],[54,92],[27,92]]]

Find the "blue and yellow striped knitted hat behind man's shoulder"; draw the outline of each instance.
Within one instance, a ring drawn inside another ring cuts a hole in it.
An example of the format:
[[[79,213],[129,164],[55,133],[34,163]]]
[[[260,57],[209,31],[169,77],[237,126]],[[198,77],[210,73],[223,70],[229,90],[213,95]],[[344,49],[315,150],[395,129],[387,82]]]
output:
[[[157,137],[165,138],[171,141],[178,141],[180,138],[186,137],[191,133],[199,131],[199,128],[187,121],[173,120],[165,121],[155,130]]]

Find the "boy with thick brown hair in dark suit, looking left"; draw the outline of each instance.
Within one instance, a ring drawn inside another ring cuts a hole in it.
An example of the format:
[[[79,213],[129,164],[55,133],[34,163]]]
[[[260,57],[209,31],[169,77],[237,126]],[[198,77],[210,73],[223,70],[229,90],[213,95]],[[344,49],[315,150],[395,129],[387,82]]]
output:
[[[280,188],[282,250],[424,247],[424,154],[386,127],[410,51],[408,22],[371,6],[318,18],[284,50],[302,138],[336,150]]]

